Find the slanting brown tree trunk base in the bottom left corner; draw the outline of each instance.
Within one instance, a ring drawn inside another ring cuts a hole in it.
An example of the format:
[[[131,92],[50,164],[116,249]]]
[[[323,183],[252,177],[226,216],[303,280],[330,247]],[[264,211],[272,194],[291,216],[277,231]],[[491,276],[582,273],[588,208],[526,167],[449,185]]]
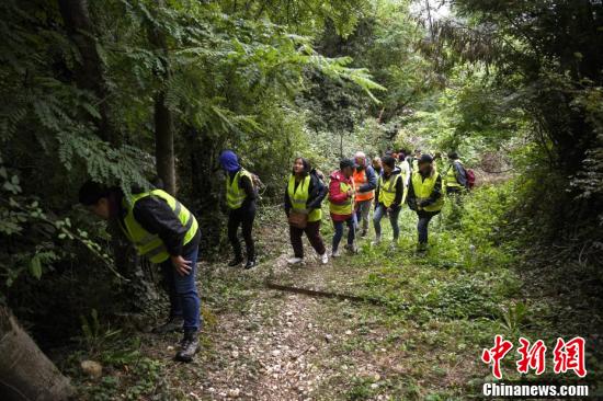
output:
[[[0,399],[66,400],[69,379],[37,347],[8,308],[0,307]]]

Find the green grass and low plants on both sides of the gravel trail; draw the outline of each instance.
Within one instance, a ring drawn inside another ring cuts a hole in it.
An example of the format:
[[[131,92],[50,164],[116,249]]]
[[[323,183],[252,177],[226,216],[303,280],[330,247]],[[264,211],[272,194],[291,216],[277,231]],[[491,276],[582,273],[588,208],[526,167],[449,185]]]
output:
[[[414,252],[417,217],[405,209],[400,216],[401,237],[395,249],[387,241],[390,228],[384,221],[386,240],[380,245],[372,245],[372,238],[360,240],[356,255],[345,254],[328,266],[309,264],[272,277],[299,287],[382,301],[377,306],[331,299],[311,303],[307,312],[312,316],[314,325],[333,336],[328,343],[321,342],[315,355],[308,355],[308,363],[322,373],[310,394],[312,399],[365,400],[380,396],[394,400],[464,400],[478,394],[483,380],[492,380],[480,355],[482,348],[492,346],[496,334],[512,341],[515,350],[520,336],[543,339],[551,350],[571,311],[564,311],[561,318],[557,306],[526,297],[517,268],[521,244],[501,239],[497,229],[507,224],[504,213],[513,202],[510,191],[510,185],[480,188],[465,198],[463,211],[456,215],[446,205],[442,216],[431,224],[430,248],[424,255]],[[280,221],[272,213],[270,220]],[[274,226],[272,231],[259,233],[259,242],[266,250],[270,248],[271,257],[289,251],[285,229]],[[271,240],[275,232],[277,238]],[[329,243],[332,225],[328,213],[322,234]],[[117,393],[125,399],[149,394],[185,399],[191,382],[207,380],[206,364],[221,375],[228,368],[223,358],[224,346],[229,352],[228,346],[243,346],[242,335],[254,335],[262,326],[274,330],[271,322],[287,302],[286,293],[263,287],[263,275],[272,272],[271,261],[266,257],[264,266],[252,274],[204,271],[202,295],[207,331],[198,369],[172,365],[170,353],[164,351],[166,339],[145,336],[150,344],[138,351],[140,344],[124,340],[125,333],[121,333],[100,339],[104,350],[94,357],[109,368],[101,382],[91,382],[73,371],[83,393],[99,400]],[[251,306],[259,298],[265,307],[255,310]],[[224,344],[225,333],[215,330],[217,321],[249,313],[257,319],[250,320],[244,333],[229,333],[231,339]],[[94,344],[100,341],[92,340]],[[175,342],[177,337],[172,340]],[[505,380],[524,378],[515,370],[515,350],[502,365]],[[599,359],[590,353],[587,356],[588,367],[596,370],[601,366]],[[260,366],[257,360],[246,364],[247,371]],[[150,385],[162,376],[169,379]],[[546,378],[555,378],[550,365],[545,377],[541,377]],[[566,375],[562,379],[572,377]]]

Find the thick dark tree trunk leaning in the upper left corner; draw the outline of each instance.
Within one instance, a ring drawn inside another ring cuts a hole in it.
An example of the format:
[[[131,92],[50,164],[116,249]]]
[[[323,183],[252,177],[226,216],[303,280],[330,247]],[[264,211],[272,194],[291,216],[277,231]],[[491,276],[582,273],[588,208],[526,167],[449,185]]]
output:
[[[69,37],[81,55],[81,65],[76,68],[75,78],[78,88],[92,92],[100,101],[100,121],[94,121],[99,136],[112,145],[118,138],[110,124],[106,98],[109,89],[103,75],[103,62],[96,49],[94,26],[90,21],[87,0],[59,0],[60,14]]]

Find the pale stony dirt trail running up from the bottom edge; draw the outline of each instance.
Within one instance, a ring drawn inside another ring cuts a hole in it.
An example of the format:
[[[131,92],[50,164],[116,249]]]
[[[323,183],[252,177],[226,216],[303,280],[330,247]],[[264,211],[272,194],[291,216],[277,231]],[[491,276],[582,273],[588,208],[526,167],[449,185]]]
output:
[[[310,262],[296,274],[311,274],[320,279],[329,267]],[[285,267],[285,256],[276,262]],[[260,272],[248,274],[261,274]],[[325,373],[315,364],[317,354],[334,341],[321,313],[331,300],[304,295],[260,289],[244,312],[219,316],[212,330],[214,355],[219,364],[206,366],[207,382],[203,396],[213,399],[243,398],[255,400],[314,399],[312,391]],[[204,398],[201,393],[201,398]]]

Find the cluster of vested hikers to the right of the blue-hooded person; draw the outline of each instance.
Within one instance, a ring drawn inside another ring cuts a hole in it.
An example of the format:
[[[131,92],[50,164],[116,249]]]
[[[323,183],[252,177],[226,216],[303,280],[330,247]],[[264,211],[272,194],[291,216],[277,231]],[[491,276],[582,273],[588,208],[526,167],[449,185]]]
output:
[[[344,249],[357,252],[356,236],[368,234],[371,210],[375,239],[373,244],[382,242],[382,219],[387,217],[391,225],[395,247],[400,234],[399,216],[405,204],[419,217],[418,251],[424,252],[428,247],[428,227],[433,216],[444,205],[444,195],[454,197],[459,205],[464,192],[470,190],[475,176],[465,169],[458,156],[448,153],[450,163],[444,176],[437,171],[437,160],[442,157],[431,156],[417,150],[413,156],[406,152],[387,152],[383,158],[375,157],[368,163],[362,151],[353,159],[342,159],[339,170],[329,175],[325,183],[322,173],[312,169],[305,158],[297,158],[285,190],[285,213],[289,222],[291,242],[294,256],[291,264],[304,261],[302,236],[305,232],[310,244],[328,263],[327,250],[320,236],[322,219],[321,203],[329,202],[329,214],[334,228],[331,243],[331,256],[340,256],[340,242],[344,227],[348,227],[348,239]]]

